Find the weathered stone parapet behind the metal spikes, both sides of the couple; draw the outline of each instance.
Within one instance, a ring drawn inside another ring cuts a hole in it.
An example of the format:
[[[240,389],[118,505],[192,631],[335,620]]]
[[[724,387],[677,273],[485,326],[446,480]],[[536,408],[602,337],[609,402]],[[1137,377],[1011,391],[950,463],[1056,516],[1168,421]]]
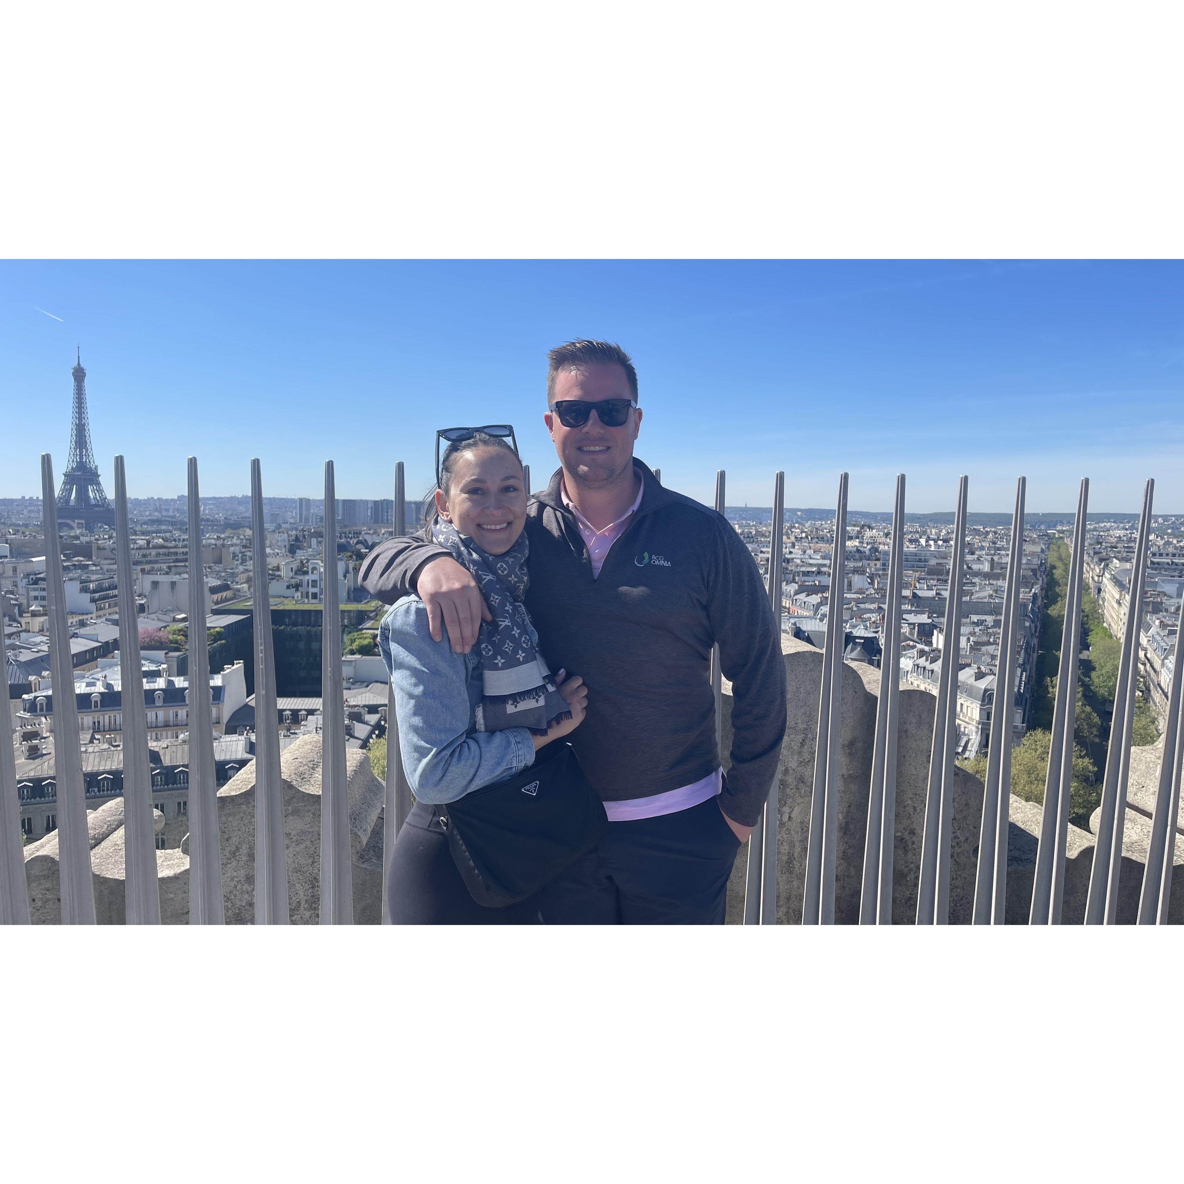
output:
[[[815,738],[822,652],[805,642],[784,638],[789,687],[789,726],[781,746],[780,823],[778,835],[778,924],[802,922],[805,852],[810,832]],[[835,914],[841,925],[858,920],[867,831],[868,791],[875,736],[880,671],[863,663],[843,663],[839,745],[838,860]],[[918,868],[925,825],[925,792],[937,699],[924,690],[902,688],[896,766],[896,834],[893,880],[893,922],[912,925],[916,913]],[[723,748],[732,744],[732,694],[725,684]],[[1138,909],[1146,858],[1150,818],[1154,807],[1162,742],[1132,753],[1130,806],[1119,877],[1118,919],[1131,924]],[[354,920],[381,920],[382,783],[374,777],[363,752],[346,755],[350,843],[353,852]],[[295,924],[315,925],[320,916],[321,866],[321,738],[303,736],[281,757],[284,834],[288,856],[290,916]],[[978,858],[983,784],[964,770],[954,780],[951,905],[952,924],[967,924]],[[172,821],[172,819],[170,819]],[[1027,924],[1040,835],[1041,807],[1012,797],[1008,835],[1006,920]],[[186,819],[187,822],[187,819]],[[226,922],[250,925],[255,919],[255,762],[218,792],[223,896]],[[156,813],[157,830],[165,824]],[[1096,823],[1094,823],[1095,825]],[[1171,920],[1184,924],[1184,809],[1177,819],[1176,869]],[[99,924],[122,925],[124,914],[123,799],[116,798],[88,816],[95,901]],[[728,924],[744,916],[747,863],[744,844],[728,884]],[[1069,828],[1063,920],[1080,924],[1093,867],[1094,836]],[[188,922],[188,842],[156,852],[161,920]],[[60,920],[58,836],[54,831],[25,848],[32,920]]]

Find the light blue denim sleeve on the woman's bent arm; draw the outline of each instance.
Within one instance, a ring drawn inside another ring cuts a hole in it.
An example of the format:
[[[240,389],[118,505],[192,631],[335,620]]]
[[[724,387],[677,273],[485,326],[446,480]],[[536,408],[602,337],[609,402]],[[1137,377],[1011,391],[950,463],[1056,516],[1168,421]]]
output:
[[[379,629],[399,720],[407,784],[420,802],[456,802],[534,762],[527,728],[470,732],[468,665],[446,641],[433,642],[418,597],[391,607]]]

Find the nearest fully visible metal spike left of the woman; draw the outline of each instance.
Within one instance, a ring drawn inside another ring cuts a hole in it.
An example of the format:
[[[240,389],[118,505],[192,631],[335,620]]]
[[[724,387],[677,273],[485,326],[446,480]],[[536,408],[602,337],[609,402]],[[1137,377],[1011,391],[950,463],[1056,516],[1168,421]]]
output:
[[[346,784],[346,696],[341,675],[337,585],[337,500],[333,462],[324,462],[324,565],[321,624],[321,924],[354,924]]]

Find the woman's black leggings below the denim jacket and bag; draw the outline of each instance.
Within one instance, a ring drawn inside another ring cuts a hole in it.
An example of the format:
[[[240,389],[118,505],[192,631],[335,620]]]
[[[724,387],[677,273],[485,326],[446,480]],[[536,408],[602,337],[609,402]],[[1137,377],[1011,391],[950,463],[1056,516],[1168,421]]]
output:
[[[534,897],[483,908],[464,887],[439,813],[417,802],[399,830],[387,888],[392,925],[539,925]]]

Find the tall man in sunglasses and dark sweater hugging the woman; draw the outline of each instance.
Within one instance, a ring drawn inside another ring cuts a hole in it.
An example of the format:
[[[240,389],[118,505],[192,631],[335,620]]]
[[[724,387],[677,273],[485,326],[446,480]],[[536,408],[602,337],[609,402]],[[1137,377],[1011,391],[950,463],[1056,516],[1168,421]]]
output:
[[[662,488],[633,457],[637,372],[604,341],[551,350],[543,416],[560,469],[527,510],[527,609],[553,670],[583,676],[572,745],[610,825],[542,893],[548,924],[722,924],[727,881],[777,771],[785,668],[760,572],[715,510]],[[418,592],[432,637],[468,652],[489,617],[443,547],[384,542],[362,584]],[[721,777],[709,669],[733,684],[732,766]]]

